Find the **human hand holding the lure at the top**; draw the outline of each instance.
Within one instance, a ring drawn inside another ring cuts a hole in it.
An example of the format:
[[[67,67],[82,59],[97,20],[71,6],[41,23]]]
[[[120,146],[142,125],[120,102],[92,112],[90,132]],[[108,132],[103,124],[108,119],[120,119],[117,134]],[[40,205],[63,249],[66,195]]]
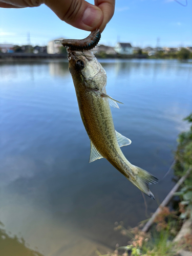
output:
[[[97,3],[95,6],[84,0],[0,0],[0,7],[25,8],[46,4],[73,27],[87,31],[98,28],[102,32],[114,14],[115,0],[98,0]]]

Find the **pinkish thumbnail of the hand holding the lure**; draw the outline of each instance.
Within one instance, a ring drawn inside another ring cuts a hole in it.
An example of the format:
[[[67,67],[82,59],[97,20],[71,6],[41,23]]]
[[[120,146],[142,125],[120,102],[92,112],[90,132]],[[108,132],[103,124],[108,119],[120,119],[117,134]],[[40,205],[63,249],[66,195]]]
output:
[[[100,22],[102,11],[88,7],[82,16],[82,22],[90,27],[95,27]]]

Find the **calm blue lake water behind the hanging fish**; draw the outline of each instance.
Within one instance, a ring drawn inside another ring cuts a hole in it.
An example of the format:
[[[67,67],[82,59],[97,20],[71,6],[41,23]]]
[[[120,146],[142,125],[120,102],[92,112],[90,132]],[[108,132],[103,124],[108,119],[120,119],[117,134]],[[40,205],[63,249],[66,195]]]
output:
[[[132,140],[125,157],[160,180],[151,186],[156,201],[145,197],[147,209],[140,190],[108,161],[88,163],[90,141],[67,60],[0,64],[0,221],[10,239],[23,238],[45,256],[92,256],[96,248],[126,245],[114,223],[133,227],[148,218],[174,185],[172,173],[163,177],[188,127],[182,119],[192,110],[192,63],[100,62],[107,93],[124,103],[112,114],[115,129]],[[1,255],[17,255],[10,248],[8,241]]]

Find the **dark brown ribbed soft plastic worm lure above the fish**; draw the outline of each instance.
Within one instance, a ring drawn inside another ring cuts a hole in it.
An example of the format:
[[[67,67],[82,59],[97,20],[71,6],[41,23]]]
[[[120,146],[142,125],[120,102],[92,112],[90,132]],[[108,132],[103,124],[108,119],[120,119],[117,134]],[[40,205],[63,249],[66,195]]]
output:
[[[89,51],[93,49],[101,38],[100,30],[94,30],[91,34],[84,39],[63,39],[55,40],[55,44],[69,47],[70,50]]]

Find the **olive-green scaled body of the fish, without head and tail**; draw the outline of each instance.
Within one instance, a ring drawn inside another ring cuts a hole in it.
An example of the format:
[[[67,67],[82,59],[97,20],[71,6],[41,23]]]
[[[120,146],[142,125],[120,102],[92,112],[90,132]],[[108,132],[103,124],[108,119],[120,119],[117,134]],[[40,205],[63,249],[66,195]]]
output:
[[[127,176],[124,167],[127,167],[129,162],[124,157],[117,142],[108,99],[85,90],[82,93],[78,91],[77,100],[81,119],[91,142],[102,157]]]

